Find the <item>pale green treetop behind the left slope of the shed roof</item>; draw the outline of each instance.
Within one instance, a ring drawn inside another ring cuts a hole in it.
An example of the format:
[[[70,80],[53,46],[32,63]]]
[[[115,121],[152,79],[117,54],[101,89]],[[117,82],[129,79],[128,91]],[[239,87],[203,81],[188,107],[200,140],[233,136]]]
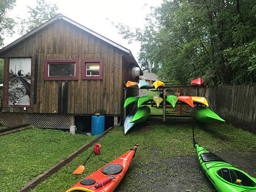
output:
[[[25,35],[56,15],[58,10],[56,4],[46,3],[45,0],[37,0],[36,3],[35,7],[27,6],[29,18],[21,19],[18,17],[20,26],[18,33],[20,35]]]

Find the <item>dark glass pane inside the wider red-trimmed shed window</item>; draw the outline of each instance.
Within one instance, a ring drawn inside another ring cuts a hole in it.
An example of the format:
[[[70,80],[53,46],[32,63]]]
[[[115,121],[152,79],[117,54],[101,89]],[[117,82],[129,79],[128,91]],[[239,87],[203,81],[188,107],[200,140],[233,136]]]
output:
[[[76,63],[48,63],[49,77],[75,77]]]

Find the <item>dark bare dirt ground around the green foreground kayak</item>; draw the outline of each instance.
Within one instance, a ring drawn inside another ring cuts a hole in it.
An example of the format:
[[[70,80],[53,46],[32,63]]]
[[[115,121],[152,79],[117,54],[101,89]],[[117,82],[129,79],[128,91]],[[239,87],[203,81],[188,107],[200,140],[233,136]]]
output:
[[[226,150],[215,154],[256,177],[256,155]],[[125,176],[116,192],[217,192],[194,156],[169,157],[159,163],[140,165],[140,171],[131,172]],[[131,183],[131,180],[136,182]]]

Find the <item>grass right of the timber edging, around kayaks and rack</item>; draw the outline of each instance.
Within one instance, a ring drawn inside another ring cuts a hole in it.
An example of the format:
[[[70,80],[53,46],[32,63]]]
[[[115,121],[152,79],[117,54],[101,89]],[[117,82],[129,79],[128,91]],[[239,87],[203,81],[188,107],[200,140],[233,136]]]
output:
[[[149,186],[151,184],[150,175],[154,171],[151,172],[148,168],[144,169],[143,166],[145,165],[158,165],[161,160],[168,157],[192,156],[194,158],[196,156],[195,148],[192,145],[191,125],[137,124],[126,135],[123,129],[123,127],[118,126],[99,141],[99,144],[102,145],[101,154],[93,154],[90,157],[81,175],[73,175],[73,171],[84,162],[93,147],[80,154],[52,177],[40,183],[32,192],[65,192],[79,180],[106,164],[99,158],[111,162],[128,151],[134,144],[139,145],[136,156],[125,175],[124,181],[120,184],[126,183],[126,188],[117,189],[118,192],[151,191],[141,189],[142,185]],[[256,154],[256,136],[228,124],[195,126],[195,139],[202,146],[214,148],[215,152],[224,149]],[[160,171],[163,171],[165,167],[163,165],[163,169]],[[135,177],[135,172],[140,172],[141,175],[147,173],[148,180],[141,183]],[[165,173],[163,172],[163,174]],[[202,192],[209,192],[209,190],[206,188]]]

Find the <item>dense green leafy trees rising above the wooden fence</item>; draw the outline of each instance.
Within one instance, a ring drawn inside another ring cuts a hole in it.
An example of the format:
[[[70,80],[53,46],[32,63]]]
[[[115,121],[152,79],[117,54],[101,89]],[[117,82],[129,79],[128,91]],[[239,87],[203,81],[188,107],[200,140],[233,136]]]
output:
[[[117,25],[123,38],[141,42],[139,62],[154,64],[164,81],[189,84],[256,82],[256,6],[252,0],[163,0],[145,29]]]

